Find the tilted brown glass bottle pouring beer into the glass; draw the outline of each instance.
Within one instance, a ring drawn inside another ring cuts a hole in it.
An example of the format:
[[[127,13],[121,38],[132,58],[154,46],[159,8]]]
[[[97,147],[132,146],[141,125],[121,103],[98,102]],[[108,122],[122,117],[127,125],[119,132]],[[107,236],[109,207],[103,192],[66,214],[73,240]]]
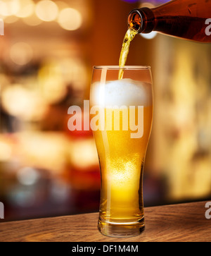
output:
[[[173,0],[155,8],[137,8],[128,25],[139,33],[161,32],[198,42],[211,42],[211,0]]]

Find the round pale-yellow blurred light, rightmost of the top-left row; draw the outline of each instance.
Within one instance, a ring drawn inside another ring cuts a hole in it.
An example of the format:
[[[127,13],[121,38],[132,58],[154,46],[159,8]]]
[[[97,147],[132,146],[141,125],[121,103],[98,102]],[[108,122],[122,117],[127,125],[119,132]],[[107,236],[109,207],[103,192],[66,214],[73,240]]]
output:
[[[64,30],[77,30],[82,25],[82,15],[74,8],[64,8],[58,15],[58,24]]]

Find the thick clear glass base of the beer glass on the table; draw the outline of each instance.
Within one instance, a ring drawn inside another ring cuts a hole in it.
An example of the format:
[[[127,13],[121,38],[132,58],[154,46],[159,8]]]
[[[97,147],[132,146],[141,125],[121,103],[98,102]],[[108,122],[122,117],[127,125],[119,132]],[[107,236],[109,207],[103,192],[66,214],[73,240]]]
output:
[[[145,229],[144,218],[134,222],[110,222],[98,219],[98,231],[104,236],[125,238],[139,236]]]

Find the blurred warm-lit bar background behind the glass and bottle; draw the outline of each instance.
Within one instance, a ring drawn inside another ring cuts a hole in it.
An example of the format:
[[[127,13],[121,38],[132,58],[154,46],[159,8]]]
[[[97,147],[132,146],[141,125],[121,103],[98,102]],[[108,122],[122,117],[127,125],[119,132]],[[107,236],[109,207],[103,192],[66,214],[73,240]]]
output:
[[[97,212],[91,131],[68,130],[94,65],[118,65],[132,8],[165,1],[0,1],[0,201],[5,219]],[[137,35],[128,65],[152,68],[155,114],[144,205],[211,198],[211,44]],[[84,113],[86,118],[86,113]]]

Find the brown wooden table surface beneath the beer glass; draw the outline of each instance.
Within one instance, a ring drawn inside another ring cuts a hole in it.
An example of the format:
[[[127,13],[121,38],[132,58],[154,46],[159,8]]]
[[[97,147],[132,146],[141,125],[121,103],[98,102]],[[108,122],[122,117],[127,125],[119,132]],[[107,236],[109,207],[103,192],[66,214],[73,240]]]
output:
[[[141,242],[211,241],[206,202],[146,207],[146,230],[132,238],[110,238],[96,228],[98,213],[1,222],[0,241]]]

